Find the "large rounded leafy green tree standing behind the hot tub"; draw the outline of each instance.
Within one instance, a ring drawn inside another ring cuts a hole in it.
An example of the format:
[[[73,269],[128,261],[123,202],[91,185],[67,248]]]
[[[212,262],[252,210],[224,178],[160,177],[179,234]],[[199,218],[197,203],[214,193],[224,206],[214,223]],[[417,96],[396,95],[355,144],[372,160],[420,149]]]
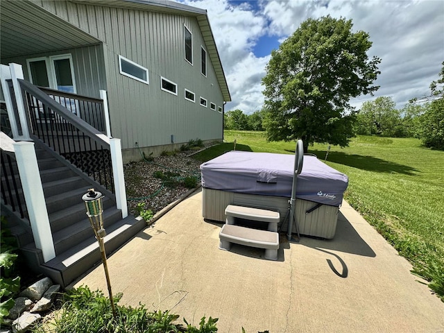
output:
[[[307,19],[271,52],[262,79],[264,128],[271,141],[302,139],[347,146],[354,136],[350,99],[371,94],[381,61],[368,59],[368,33],[352,33],[351,20]]]

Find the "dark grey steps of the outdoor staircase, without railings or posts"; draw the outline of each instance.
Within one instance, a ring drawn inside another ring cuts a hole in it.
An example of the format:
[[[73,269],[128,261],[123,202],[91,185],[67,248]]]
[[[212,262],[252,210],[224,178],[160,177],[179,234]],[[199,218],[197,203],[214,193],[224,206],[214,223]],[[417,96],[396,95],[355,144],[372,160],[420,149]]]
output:
[[[107,232],[104,240],[108,254],[143,230],[146,223],[135,219],[134,216],[122,219],[121,210],[117,209],[114,195],[110,191],[63,157],[38,143],[38,139],[35,139],[35,146],[56,257],[44,263],[42,251],[35,247],[27,219],[22,221],[12,219],[10,228],[12,234],[17,237],[28,266],[33,271],[43,273],[54,282],[66,287],[101,261],[99,246],[82,200],[87,189],[93,187],[105,195],[103,222]],[[24,198],[22,199],[24,203]],[[22,205],[22,209],[26,212],[26,205]]]

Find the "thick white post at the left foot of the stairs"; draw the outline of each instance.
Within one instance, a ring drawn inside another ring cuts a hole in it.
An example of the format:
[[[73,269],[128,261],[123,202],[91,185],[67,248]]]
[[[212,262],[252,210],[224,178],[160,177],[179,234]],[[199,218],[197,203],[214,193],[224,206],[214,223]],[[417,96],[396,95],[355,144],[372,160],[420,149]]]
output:
[[[51,225],[49,225],[34,143],[15,142],[13,146],[35,246],[42,250],[44,262],[49,262],[56,257],[56,250],[54,249]]]

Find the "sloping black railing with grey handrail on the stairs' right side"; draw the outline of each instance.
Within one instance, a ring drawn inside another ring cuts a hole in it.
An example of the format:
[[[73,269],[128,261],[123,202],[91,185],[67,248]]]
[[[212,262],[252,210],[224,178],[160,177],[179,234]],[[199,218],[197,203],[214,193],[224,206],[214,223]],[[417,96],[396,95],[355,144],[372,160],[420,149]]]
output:
[[[114,193],[108,137],[32,83],[26,80],[19,83],[28,106],[30,132]],[[74,101],[74,105],[79,103]]]

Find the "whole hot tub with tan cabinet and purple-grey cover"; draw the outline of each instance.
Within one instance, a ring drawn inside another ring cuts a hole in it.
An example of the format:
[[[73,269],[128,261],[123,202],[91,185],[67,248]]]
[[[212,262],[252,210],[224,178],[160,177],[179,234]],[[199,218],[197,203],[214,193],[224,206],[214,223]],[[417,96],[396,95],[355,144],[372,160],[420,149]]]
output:
[[[294,169],[295,155],[244,151],[230,151],[201,164],[204,219],[225,221],[227,205],[244,205],[278,211],[280,222],[288,221]],[[297,177],[298,231],[333,238],[347,176],[315,156],[304,155]]]

